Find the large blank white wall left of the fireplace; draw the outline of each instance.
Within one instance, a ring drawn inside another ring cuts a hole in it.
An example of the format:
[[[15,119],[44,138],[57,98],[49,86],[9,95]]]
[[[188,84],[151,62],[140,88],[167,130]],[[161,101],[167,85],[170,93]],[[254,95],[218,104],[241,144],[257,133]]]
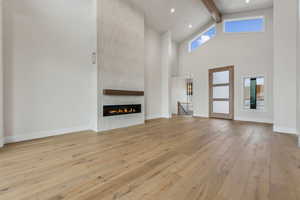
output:
[[[7,142],[95,127],[95,3],[4,1]]]

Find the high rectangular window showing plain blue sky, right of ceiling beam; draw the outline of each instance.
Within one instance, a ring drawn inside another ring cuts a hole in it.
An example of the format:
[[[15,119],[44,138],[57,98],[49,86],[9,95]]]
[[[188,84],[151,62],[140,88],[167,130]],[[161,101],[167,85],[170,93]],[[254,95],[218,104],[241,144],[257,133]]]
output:
[[[264,17],[231,19],[224,21],[225,33],[263,32],[265,29]]]

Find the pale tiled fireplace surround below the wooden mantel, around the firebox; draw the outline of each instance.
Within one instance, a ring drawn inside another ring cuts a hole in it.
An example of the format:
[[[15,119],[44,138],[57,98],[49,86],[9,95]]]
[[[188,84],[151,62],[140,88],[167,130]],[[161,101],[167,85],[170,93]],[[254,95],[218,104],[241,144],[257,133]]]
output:
[[[145,121],[144,114],[144,96],[102,96],[103,104],[100,106],[99,113],[99,131],[112,130],[117,128],[124,128],[143,124]],[[141,104],[141,113],[116,115],[116,116],[103,116],[103,106],[105,105],[132,105]]]

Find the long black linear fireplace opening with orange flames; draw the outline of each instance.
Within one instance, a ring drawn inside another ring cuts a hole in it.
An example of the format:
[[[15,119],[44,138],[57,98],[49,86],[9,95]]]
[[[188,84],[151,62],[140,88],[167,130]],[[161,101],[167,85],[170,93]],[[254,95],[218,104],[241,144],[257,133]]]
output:
[[[103,116],[128,115],[142,112],[141,104],[103,106]]]

